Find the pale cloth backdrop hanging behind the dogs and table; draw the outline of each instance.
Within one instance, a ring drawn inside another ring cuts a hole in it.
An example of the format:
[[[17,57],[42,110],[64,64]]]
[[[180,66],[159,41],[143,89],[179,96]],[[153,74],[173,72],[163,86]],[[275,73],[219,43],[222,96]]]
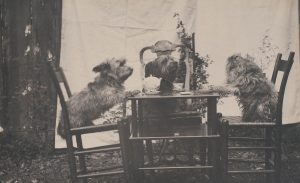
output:
[[[296,0],[64,0],[61,66],[72,91],[77,92],[95,77],[93,66],[109,57],[125,57],[134,68],[126,88],[140,89],[139,51],[162,39],[178,42],[173,18],[177,12],[187,31],[196,33],[196,51],[214,60],[208,69],[210,84],[224,83],[229,55],[259,56],[265,35],[284,57],[295,51],[283,115],[285,123],[299,122],[297,7]],[[218,111],[239,114],[234,98],[224,99]],[[116,134],[84,137],[87,146],[115,140]],[[56,146],[64,145],[57,137]]]

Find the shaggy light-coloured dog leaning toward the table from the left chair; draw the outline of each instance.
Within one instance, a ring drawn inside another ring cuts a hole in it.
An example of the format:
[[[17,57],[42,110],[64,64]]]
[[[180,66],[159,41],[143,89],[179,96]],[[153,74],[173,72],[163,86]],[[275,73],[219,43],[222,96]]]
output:
[[[94,125],[92,120],[123,102],[126,96],[123,83],[132,74],[133,69],[126,66],[125,59],[112,58],[95,66],[93,71],[99,73],[94,82],[89,83],[85,89],[67,101],[70,128]],[[65,139],[62,115],[57,133]]]

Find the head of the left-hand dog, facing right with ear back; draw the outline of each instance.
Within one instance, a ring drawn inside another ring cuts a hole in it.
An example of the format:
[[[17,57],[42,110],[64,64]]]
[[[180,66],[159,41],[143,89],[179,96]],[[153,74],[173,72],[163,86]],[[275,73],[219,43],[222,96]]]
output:
[[[112,58],[95,66],[93,71],[99,72],[101,78],[111,77],[123,83],[132,74],[133,69],[126,65],[126,59]]]

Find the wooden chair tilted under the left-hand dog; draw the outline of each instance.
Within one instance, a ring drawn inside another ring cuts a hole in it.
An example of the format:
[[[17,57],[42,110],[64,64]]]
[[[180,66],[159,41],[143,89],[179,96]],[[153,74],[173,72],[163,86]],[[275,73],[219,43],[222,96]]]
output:
[[[62,108],[62,115],[64,119],[64,130],[66,133],[66,144],[67,144],[67,155],[68,155],[68,162],[70,166],[70,176],[72,183],[77,183],[79,180],[82,182],[87,182],[88,178],[95,178],[101,176],[111,176],[111,175],[119,175],[125,173],[125,180],[127,180],[127,169],[123,167],[126,166],[126,155],[125,152],[120,147],[120,144],[112,144],[100,147],[93,147],[93,148],[84,148],[82,143],[81,136],[83,134],[89,133],[100,133],[100,132],[107,132],[107,131],[115,131],[121,130],[122,126],[118,124],[105,124],[105,125],[95,125],[95,126],[87,126],[87,127],[80,127],[80,128],[70,128],[70,121],[69,121],[69,113],[68,108],[66,105],[65,96],[63,93],[63,88],[67,93],[67,97],[71,97],[71,90],[67,83],[66,77],[61,67],[57,67],[55,62],[50,61],[47,62],[47,68],[49,72],[49,76],[54,84],[54,87],[57,91],[60,105]],[[63,84],[63,87],[61,86]],[[122,130],[122,132],[125,132]],[[120,141],[122,142],[124,139],[124,133],[119,134]],[[72,137],[76,137],[77,148],[74,147]],[[124,147],[124,146],[123,146]],[[122,159],[124,166],[115,166],[109,168],[102,168],[99,170],[87,170],[85,157],[89,154],[93,153],[107,153],[107,152],[115,152],[115,151],[122,151]],[[76,165],[76,157],[79,159],[79,168]]]

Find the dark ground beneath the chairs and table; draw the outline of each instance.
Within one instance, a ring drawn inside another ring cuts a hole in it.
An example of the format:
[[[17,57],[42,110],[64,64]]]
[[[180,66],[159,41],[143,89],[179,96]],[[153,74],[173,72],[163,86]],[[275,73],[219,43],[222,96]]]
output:
[[[286,158],[282,163],[282,183],[300,182],[300,143],[297,139],[285,140]],[[55,152],[52,154],[38,153],[38,149],[29,149],[30,147],[21,146],[21,143],[15,141],[14,144],[0,145],[0,183],[68,183],[69,166],[64,152]],[[259,158],[252,152],[233,154],[236,157]],[[261,156],[261,158],[263,158]],[[119,153],[106,153],[89,156],[87,158],[87,167],[109,167],[121,163]],[[233,162],[230,168],[254,168],[259,169],[260,165],[249,165],[241,162]],[[146,175],[147,178],[153,178]],[[197,171],[177,171],[158,173],[155,177],[157,183],[194,183],[207,182],[205,176]],[[202,181],[203,180],[203,181]],[[262,183],[263,177],[260,176],[233,176],[230,179],[232,183]],[[101,179],[91,179],[91,183],[122,183],[123,177],[110,176]]]

